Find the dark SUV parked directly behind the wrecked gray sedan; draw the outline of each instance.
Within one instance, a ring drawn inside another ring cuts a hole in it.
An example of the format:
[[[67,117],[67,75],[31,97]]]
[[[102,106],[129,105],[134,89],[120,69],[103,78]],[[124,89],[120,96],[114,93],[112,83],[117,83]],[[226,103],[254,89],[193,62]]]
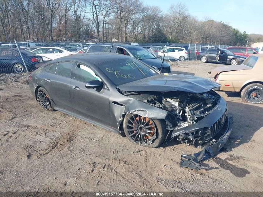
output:
[[[123,55],[129,55],[136,59],[139,59],[143,63],[148,64],[153,68],[160,70],[162,60],[157,59],[148,50],[135,45],[122,45],[112,43],[96,43],[89,45],[85,53],[119,53]],[[162,66],[162,73],[171,73],[171,66],[169,63],[164,62]]]

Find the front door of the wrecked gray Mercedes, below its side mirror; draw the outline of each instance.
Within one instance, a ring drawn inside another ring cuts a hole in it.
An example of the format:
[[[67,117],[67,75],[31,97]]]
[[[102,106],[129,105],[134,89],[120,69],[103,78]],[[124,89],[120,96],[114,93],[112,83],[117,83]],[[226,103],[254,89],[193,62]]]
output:
[[[98,91],[88,89],[85,83],[101,78],[87,65],[77,63],[70,83],[70,96],[74,113],[110,126],[110,91],[105,86]]]

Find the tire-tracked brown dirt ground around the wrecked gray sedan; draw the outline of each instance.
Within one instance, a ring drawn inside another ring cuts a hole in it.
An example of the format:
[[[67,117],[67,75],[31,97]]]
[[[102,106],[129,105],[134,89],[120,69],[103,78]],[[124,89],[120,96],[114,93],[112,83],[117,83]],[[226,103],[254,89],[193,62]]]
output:
[[[207,78],[215,63],[171,63],[172,72]],[[219,92],[233,116],[229,152],[209,171],[179,167],[200,148],[176,141],[143,148],[127,138],[38,105],[29,74],[0,75],[0,191],[263,191],[263,105]]]

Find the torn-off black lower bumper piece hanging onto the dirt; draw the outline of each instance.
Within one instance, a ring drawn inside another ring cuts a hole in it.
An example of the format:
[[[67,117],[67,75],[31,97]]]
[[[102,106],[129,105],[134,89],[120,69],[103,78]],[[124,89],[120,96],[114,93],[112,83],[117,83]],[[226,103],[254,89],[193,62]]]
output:
[[[198,162],[213,157],[220,151],[220,149],[228,141],[228,138],[232,132],[232,123],[232,116],[227,117],[223,128],[218,132],[216,136],[214,136],[214,139],[211,139],[210,142],[206,144],[206,146],[200,152],[195,153],[193,156],[182,154],[180,167],[188,167],[195,170],[209,169],[209,167],[204,167]]]

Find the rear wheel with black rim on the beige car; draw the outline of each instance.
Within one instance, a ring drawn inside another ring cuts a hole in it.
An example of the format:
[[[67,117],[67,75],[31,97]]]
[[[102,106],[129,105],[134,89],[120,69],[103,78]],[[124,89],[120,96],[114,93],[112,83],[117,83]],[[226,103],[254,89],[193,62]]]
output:
[[[241,91],[241,99],[243,102],[263,103],[263,84],[252,83],[244,87]]]

